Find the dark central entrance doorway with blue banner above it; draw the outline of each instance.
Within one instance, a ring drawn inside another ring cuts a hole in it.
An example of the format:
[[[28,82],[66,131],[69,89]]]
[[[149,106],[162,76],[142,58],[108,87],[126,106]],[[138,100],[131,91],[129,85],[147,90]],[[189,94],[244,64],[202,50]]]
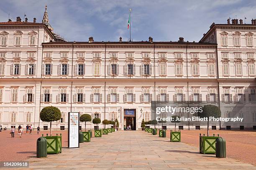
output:
[[[124,129],[136,130],[136,109],[124,109]]]

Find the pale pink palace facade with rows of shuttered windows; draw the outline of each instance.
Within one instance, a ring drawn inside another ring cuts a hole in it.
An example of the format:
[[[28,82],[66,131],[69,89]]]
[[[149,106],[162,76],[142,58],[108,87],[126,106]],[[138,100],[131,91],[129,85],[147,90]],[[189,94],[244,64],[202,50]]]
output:
[[[42,23],[19,17],[2,22],[0,124],[46,130],[49,122],[40,120],[40,111],[52,105],[61,110],[61,120],[52,125],[56,130],[67,129],[71,111],[118,119],[120,129],[131,124],[138,130],[142,119],[151,120],[151,101],[172,101],[210,103],[222,117],[244,118],[210,122],[212,129],[256,129],[256,20],[251,22],[213,23],[199,42],[66,42],[51,28],[47,7]],[[87,128],[94,128],[92,122]]]

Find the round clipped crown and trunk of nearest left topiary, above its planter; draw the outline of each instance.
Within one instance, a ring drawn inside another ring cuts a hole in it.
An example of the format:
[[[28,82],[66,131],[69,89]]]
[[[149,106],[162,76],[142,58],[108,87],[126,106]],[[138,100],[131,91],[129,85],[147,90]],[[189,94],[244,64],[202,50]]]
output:
[[[40,112],[40,119],[43,122],[50,122],[50,135],[51,135],[51,122],[58,121],[61,118],[61,112],[57,107],[47,106]]]

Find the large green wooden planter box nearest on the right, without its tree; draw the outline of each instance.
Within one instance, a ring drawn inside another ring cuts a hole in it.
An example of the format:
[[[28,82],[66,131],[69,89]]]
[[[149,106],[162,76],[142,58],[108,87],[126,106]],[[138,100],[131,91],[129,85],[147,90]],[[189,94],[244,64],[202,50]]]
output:
[[[219,135],[218,135],[219,136]],[[217,136],[201,136],[200,133],[200,140],[199,140],[199,145],[200,145],[200,153],[202,154],[216,154],[216,148],[215,148],[215,143]]]

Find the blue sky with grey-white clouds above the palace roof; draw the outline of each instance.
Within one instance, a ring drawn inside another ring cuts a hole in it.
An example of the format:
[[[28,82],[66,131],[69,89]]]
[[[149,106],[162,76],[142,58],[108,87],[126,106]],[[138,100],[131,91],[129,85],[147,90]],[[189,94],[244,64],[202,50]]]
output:
[[[45,5],[54,32],[68,41],[128,41],[131,8],[133,41],[198,42],[214,23],[256,18],[256,0],[0,0],[0,22],[42,22]]]

